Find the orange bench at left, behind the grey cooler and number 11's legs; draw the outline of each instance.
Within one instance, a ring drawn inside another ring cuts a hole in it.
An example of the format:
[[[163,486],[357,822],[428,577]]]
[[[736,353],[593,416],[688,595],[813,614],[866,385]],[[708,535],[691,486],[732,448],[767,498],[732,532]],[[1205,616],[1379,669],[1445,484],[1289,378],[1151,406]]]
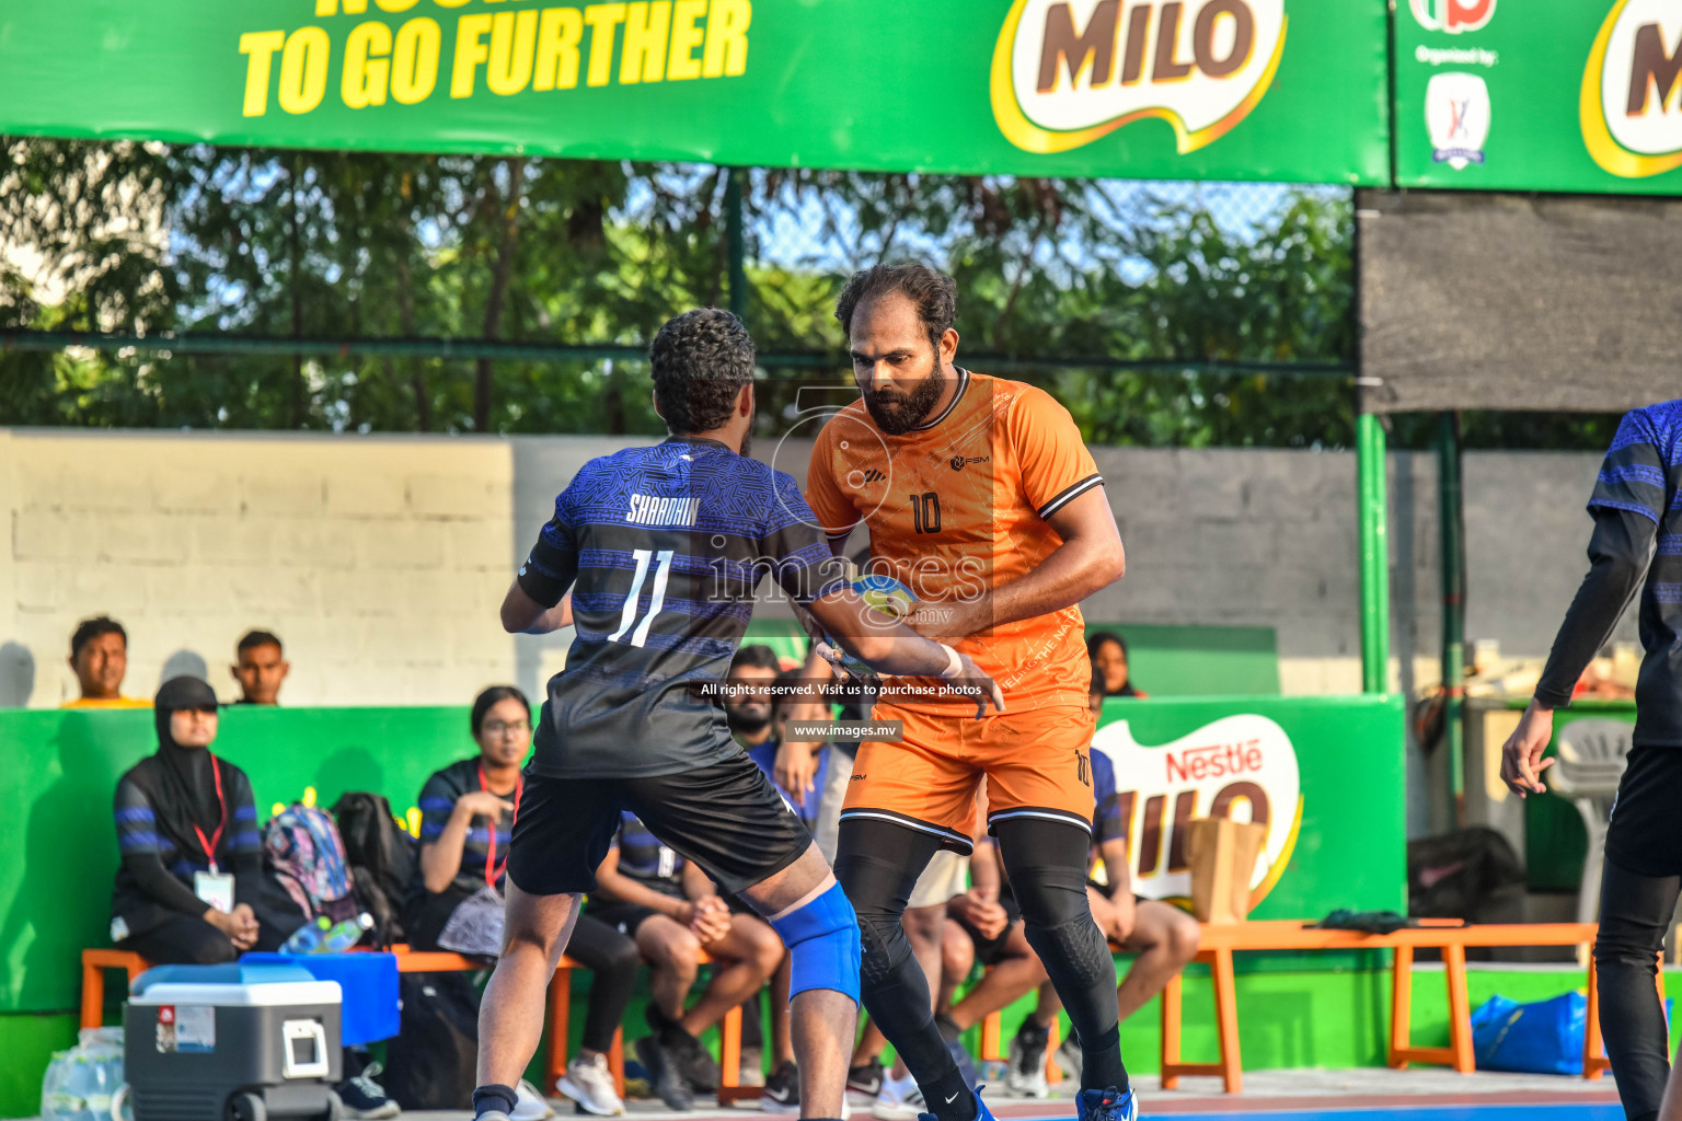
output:
[[[488,968],[484,961],[449,951],[410,950],[395,945],[399,973],[449,973]],[[711,958],[701,951],[701,965]],[[128,982],[151,968],[151,963],[130,950],[82,950],[82,1027],[99,1027],[104,1020],[104,971],[124,970]],[[562,958],[548,985],[548,1047],[543,1052],[543,1092],[555,1092],[555,1082],[567,1072],[567,1029],[572,1013],[572,970],[584,966],[572,958]],[[614,1030],[614,1045],[607,1052],[607,1066],[621,1097],[626,1092],[624,1025]],[[759,1086],[742,1086],[742,1008],[732,1008],[718,1024],[718,1104],[757,1099]]]

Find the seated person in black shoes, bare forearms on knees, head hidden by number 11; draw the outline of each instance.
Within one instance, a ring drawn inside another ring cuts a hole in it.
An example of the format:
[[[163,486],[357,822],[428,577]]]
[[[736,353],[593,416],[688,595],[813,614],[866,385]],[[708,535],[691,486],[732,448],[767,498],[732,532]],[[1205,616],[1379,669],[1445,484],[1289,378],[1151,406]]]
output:
[[[653,1035],[636,1040],[636,1057],[661,1101],[688,1109],[695,1092],[718,1089],[718,1064],[701,1049],[700,1034],[777,971],[782,939],[757,914],[732,913],[706,874],[632,813],[622,815],[607,859],[595,869],[595,886],[584,914],[634,938],[653,970]],[[685,1008],[703,950],[718,968],[695,1007]]]

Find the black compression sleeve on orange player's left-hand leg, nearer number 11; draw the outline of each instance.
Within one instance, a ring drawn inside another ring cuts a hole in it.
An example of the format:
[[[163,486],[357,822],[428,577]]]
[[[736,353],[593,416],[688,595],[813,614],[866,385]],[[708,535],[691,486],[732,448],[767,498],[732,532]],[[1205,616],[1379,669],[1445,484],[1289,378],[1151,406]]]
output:
[[[971,1087],[964,1086],[964,1076],[935,1027],[928,982],[900,926],[912,887],[939,847],[940,840],[922,830],[849,818],[841,822],[834,867],[841,891],[858,914],[865,948],[860,970],[865,1010],[917,1079],[925,1108],[940,1121],[971,1121],[976,1116],[974,1094],[964,1092]]]

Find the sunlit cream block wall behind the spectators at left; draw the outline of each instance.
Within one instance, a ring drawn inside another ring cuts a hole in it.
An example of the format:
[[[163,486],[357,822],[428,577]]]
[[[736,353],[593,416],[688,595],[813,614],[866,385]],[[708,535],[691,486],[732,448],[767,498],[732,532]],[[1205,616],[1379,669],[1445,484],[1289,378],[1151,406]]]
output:
[[[10,703],[76,696],[77,620],[130,632],[124,692],[209,671],[272,630],[291,704],[471,697],[513,671],[505,440],[0,430],[12,529],[0,561]],[[8,590],[8,593],[7,593]]]

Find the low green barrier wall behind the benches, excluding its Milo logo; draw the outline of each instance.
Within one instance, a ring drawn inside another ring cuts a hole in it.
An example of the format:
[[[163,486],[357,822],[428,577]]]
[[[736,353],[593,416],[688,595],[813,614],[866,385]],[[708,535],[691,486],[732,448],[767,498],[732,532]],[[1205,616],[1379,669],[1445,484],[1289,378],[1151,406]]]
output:
[[[1213,697],[1108,703],[1140,745],[1169,743],[1235,713],[1277,721],[1302,771],[1302,825],[1278,886],[1256,918],[1324,914],[1336,906],[1401,908],[1403,755],[1396,697]],[[39,1106],[54,1049],[76,1037],[79,953],[108,943],[118,776],[155,750],[151,713],[0,711],[7,766],[0,797],[0,1116]],[[377,790],[402,812],[439,766],[468,756],[466,708],[227,709],[215,750],[246,768],[261,817],[315,787],[330,805]],[[1246,1066],[1351,1066],[1381,1060],[1378,955],[1250,955],[1241,970]],[[109,982],[116,987],[116,978]],[[580,997],[587,982],[580,978]],[[1213,1015],[1187,988],[1187,1047],[1213,1040]],[[1024,1005],[1026,1007],[1026,1005]],[[582,1024],[582,1015],[574,1018]],[[1152,1069],[1154,1012],[1127,1027]],[[637,1030],[632,1030],[632,1035]],[[1193,1054],[1187,1050],[1187,1054]]]

